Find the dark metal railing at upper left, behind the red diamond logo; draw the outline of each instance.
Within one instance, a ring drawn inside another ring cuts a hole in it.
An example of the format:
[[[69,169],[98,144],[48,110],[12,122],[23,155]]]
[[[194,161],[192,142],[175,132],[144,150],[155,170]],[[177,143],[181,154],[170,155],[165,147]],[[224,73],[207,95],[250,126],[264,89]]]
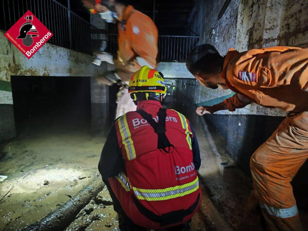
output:
[[[88,54],[101,47],[101,30],[56,0],[0,0],[0,30],[9,30],[28,10],[53,33],[49,43]]]

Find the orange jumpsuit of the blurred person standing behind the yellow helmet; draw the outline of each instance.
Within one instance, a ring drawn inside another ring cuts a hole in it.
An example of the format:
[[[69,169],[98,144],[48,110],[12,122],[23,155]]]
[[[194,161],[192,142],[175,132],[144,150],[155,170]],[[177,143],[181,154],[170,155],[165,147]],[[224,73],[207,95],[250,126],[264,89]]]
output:
[[[155,68],[158,53],[158,31],[153,20],[135,10],[131,5],[125,8],[123,18],[119,19],[119,50],[115,64],[122,70],[122,72],[118,71],[120,78],[123,79],[123,76],[130,78],[142,67],[137,63],[138,56],[148,63],[147,66]],[[136,105],[130,98],[127,87],[118,95],[116,117],[136,110]]]

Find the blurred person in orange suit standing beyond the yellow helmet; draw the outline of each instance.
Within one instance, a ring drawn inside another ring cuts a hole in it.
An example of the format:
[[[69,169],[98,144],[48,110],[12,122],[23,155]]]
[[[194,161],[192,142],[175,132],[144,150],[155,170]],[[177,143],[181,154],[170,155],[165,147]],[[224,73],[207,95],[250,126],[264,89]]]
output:
[[[158,53],[158,31],[153,20],[129,5],[129,0],[83,0],[92,13],[98,13],[107,22],[118,22],[118,55],[116,59],[109,53],[98,53],[93,61],[114,65],[115,71],[97,77],[99,83],[112,85],[122,82],[124,89],[118,94],[117,117],[127,111],[136,110],[130,100],[127,85],[129,78],[141,66],[155,68]]]

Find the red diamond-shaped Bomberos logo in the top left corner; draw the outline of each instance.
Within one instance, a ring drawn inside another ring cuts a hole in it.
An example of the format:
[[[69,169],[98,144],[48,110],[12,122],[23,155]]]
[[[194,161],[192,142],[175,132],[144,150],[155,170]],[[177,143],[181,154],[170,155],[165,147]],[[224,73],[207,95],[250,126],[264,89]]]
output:
[[[52,33],[41,23],[31,11],[27,11],[4,34],[17,49],[28,59],[39,50],[51,37]]]

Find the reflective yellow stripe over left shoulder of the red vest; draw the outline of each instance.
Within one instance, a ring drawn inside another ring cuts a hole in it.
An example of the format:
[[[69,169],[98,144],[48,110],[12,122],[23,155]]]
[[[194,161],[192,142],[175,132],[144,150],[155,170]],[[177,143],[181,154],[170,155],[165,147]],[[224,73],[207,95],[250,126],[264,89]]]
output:
[[[136,159],[136,150],[134,147],[134,142],[132,140],[131,132],[129,131],[127,120],[126,120],[126,114],[120,117],[118,119],[117,123],[119,124],[120,134],[122,137],[122,143],[124,144],[127,159],[128,160],[134,160]]]

